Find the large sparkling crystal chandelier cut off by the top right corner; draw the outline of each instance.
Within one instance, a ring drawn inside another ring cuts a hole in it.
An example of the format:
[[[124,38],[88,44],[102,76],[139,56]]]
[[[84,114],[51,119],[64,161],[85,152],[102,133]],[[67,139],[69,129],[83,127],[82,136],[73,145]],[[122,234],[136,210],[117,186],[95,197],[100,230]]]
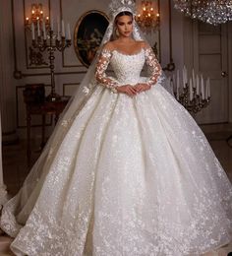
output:
[[[214,26],[232,21],[232,0],[174,0],[174,7]]]

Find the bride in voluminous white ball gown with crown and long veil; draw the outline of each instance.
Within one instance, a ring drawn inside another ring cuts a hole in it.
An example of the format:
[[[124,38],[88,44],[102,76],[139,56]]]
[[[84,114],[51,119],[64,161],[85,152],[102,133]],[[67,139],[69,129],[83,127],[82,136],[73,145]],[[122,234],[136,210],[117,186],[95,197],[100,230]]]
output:
[[[232,239],[228,177],[168,92],[132,1],[110,10],[81,87],[2,211],[16,255],[197,256]]]

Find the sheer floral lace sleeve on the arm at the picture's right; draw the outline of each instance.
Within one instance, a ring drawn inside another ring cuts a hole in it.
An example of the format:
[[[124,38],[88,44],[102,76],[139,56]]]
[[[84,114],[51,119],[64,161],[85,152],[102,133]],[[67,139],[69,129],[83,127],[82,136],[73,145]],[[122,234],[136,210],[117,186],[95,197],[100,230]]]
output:
[[[150,77],[147,84],[153,86],[157,83],[158,77],[161,75],[162,68],[150,46],[145,47],[145,63],[150,71]]]

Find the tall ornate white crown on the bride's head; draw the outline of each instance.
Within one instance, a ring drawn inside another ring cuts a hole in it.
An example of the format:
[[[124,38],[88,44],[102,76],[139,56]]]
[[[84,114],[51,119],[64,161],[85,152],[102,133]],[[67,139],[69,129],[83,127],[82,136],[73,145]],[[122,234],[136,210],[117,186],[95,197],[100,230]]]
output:
[[[134,0],[112,0],[109,4],[109,11],[112,19],[121,12],[131,12],[136,15],[136,4]]]

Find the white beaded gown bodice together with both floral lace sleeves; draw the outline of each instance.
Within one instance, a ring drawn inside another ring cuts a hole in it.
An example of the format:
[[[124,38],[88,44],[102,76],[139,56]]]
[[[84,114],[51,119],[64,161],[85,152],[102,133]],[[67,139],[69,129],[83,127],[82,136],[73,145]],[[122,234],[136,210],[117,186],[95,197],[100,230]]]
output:
[[[138,53],[131,55],[103,48],[96,65],[95,78],[102,86],[109,89],[116,85],[135,85],[140,79],[145,63],[150,71],[150,77],[146,83],[153,86],[161,74],[161,67],[150,47],[144,47]],[[106,75],[109,64],[116,80]]]

